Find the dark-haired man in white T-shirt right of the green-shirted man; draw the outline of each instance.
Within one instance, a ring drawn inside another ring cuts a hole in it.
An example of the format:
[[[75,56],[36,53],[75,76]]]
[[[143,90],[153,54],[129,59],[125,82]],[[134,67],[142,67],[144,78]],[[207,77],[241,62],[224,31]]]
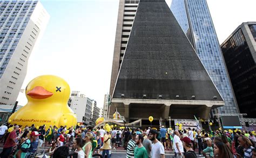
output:
[[[149,138],[153,142],[151,149],[151,157],[154,158],[164,158],[165,151],[164,146],[161,142],[157,140],[158,132],[155,129],[151,129],[149,132]]]

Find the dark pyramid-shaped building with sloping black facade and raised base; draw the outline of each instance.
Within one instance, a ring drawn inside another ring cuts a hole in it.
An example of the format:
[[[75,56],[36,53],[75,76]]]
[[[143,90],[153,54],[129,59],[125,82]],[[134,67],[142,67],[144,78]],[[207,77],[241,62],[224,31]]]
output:
[[[207,119],[211,108],[224,105],[164,0],[140,0],[112,104],[126,120]]]

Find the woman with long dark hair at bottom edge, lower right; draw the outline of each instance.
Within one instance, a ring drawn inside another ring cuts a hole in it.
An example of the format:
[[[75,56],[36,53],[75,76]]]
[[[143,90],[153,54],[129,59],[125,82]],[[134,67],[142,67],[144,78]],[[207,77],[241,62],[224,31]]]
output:
[[[224,142],[215,142],[213,148],[214,156],[217,158],[233,158],[231,150],[225,145]]]

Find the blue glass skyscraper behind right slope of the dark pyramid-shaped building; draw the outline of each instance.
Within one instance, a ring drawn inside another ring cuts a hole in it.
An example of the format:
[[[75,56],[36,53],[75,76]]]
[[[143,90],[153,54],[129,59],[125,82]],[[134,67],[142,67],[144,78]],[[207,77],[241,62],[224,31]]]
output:
[[[239,113],[206,0],[172,0],[171,11],[225,101],[219,113]]]

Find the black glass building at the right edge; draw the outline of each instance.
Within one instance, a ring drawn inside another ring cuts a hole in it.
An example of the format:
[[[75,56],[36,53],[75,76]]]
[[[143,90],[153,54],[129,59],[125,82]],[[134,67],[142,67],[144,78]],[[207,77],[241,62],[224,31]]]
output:
[[[221,50],[240,112],[256,118],[256,22],[238,26]]]

